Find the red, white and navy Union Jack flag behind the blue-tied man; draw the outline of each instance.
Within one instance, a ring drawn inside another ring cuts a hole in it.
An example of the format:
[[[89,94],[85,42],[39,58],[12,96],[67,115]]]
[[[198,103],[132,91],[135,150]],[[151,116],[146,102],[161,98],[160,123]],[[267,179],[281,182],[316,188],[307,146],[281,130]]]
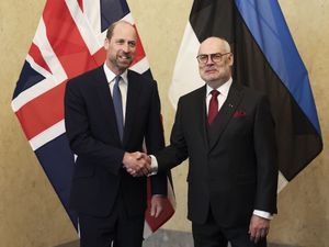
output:
[[[70,78],[104,63],[106,29],[122,19],[134,24],[125,0],[47,0],[13,93],[12,109],[76,228],[68,209],[75,157],[65,134],[64,91]],[[139,38],[131,69],[151,76]],[[145,238],[174,212],[168,184],[164,213],[155,220],[146,212]]]

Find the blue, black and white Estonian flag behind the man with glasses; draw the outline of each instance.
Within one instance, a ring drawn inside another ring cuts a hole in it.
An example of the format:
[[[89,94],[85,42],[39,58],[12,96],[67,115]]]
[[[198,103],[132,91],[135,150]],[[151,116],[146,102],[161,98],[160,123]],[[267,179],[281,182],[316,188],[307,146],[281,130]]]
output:
[[[195,57],[200,43],[209,36],[231,44],[235,80],[270,99],[280,191],[322,150],[307,70],[280,5],[276,0],[194,0],[169,90],[174,106],[179,97],[204,85]]]

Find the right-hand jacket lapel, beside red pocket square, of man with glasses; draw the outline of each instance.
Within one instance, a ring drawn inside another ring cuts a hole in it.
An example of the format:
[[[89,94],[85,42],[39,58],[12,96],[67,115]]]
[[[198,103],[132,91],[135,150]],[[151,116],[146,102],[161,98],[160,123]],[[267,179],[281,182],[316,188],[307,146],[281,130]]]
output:
[[[242,90],[239,86],[235,83],[231,85],[227,99],[223,106],[219,110],[219,113],[213,124],[208,127],[208,136],[209,136],[209,150],[214,148],[223,131],[227,126],[229,120],[232,117],[234,112],[239,105],[242,99]]]

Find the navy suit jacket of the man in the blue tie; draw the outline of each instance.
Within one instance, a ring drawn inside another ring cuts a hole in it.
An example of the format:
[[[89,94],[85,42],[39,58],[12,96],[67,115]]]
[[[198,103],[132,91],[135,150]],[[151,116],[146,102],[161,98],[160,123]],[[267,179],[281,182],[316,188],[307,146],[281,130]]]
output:
[[[112,97],[103,67],[68,81],[65,124],[69,144],[78,155],[70,206],[94,216],[110,214],[117,194],[129,215],[144,214],[146,178],[133,178],[123,168],[125,151],[148,153],[163,147],[157,83],[128,70],[128,90],[123,142],[120,141]],[[167,177],[151,178],[154,194],[167,193]]]

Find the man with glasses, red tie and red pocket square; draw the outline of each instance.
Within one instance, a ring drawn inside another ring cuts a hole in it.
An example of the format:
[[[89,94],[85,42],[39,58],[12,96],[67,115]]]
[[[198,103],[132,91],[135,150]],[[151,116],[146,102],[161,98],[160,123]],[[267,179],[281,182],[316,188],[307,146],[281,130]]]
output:
[[[205,40],[197,61],[206,85],[180,98],[170,146],[156,153],[152,166],[160,173],[190,158],[195,247],[266,246],[277,187],[269,102],[231,79],[234,55],[225,40]]]

